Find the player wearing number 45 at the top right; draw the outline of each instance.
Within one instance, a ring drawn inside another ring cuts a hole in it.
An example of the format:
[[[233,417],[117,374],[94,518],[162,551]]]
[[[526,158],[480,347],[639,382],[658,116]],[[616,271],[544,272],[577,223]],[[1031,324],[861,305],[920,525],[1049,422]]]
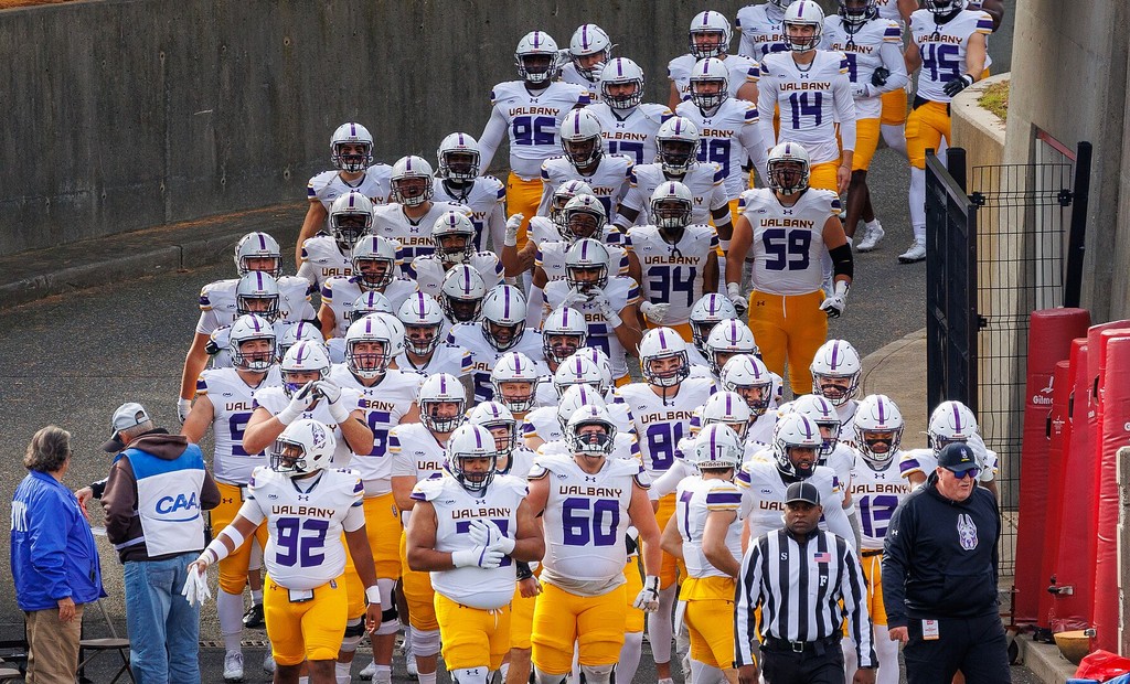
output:
[[[925,9],[910,19],[906,71],[920,67],[913,110],[906,118],[906,154],[911,161],[911,225],[914,243],[899,263],[925,260],[925,150],[949,145],[949,104],[982,78],[992,63],[986,36],[993,31],[989,12],[964,9],[965,0],[925,0]]]

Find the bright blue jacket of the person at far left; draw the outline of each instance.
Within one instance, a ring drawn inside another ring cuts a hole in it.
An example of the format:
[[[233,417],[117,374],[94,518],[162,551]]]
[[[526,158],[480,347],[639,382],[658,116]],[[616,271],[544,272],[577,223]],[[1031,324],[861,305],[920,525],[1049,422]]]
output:
[[[28,473],[11,500],[11,574],[23,611],[106,595],[90,523],[75,494],[46,473]]]

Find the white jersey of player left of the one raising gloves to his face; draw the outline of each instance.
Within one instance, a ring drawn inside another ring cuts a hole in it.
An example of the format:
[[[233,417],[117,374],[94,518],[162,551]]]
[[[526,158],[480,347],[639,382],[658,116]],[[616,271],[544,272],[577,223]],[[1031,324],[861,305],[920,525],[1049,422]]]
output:
[[[267,465],[266,453],[247,453],[243,449],[243,433],[254,412],[255,395],[281,384],[278,366],[271,366],[255,387],[244,382],[235,369],[205,371],[197,379],[197,395],[207,395],[212,404],[212,476],[216,482],[243,485],[251,478],[252,470]]]

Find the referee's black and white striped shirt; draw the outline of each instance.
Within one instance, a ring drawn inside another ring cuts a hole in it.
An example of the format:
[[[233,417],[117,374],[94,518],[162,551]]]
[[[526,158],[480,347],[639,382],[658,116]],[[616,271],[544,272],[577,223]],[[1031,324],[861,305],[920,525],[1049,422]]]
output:
[[[741,560],[736,603],[736,666],[754,664],[758,605],[762,637],[788,641],[833,637],[846,615],[860,666],[876,666],[863,570],[851,544],[829,531],[815,530],[800,542],[784,529],[757,537]]]

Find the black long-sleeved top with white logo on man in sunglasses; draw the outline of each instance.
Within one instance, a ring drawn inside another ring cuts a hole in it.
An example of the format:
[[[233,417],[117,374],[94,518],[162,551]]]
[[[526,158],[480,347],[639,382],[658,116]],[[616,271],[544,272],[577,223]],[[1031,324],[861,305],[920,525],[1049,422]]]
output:
[[[950,501],[938,475],[895,509],[883,553],[883,603],[889,627],[909,620],[998,613],[1000,512],[991,492]]]

